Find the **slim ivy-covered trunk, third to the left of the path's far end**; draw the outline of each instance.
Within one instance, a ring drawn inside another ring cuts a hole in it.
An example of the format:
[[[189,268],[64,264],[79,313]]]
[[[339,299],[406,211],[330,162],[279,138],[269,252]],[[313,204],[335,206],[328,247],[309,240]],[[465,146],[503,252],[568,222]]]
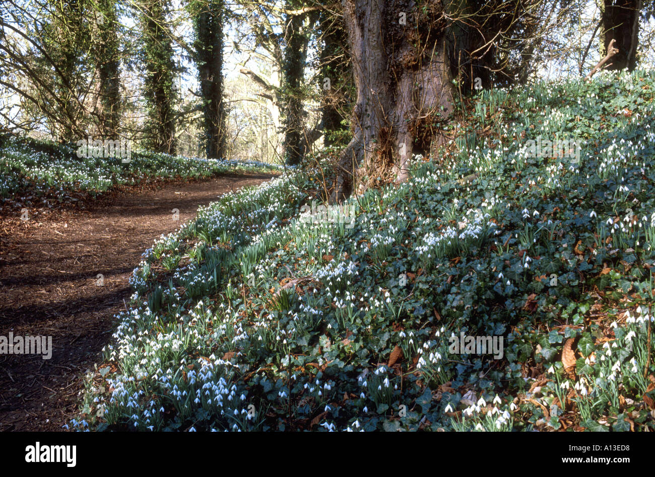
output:
[[[121,122],[121,78],[115,0],[98,0],[98,77],[100,79],[100,131],[116,139]]]

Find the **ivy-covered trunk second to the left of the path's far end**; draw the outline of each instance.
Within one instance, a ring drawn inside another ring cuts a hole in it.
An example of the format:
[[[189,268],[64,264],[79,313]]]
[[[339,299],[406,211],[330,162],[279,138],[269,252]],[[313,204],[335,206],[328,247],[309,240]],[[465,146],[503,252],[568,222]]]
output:
[[[175,63],[166,22],[168,5],[160,0],[143,3],[144,96],[149,112],[147,143],[156,152],[176,152]]]

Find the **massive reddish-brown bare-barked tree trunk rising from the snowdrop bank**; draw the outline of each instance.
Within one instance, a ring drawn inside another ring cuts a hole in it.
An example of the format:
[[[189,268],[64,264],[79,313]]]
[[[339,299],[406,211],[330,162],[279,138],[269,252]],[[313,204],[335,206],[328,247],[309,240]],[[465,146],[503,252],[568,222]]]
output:
[[[431,124],[453,111],[442,13],[434,0],[421,9],[413,0],[344,0],[357,99],[333,200],[352,192],[356,176],[371,183],[392,171],[405,181],[413,151],[436,139]]]

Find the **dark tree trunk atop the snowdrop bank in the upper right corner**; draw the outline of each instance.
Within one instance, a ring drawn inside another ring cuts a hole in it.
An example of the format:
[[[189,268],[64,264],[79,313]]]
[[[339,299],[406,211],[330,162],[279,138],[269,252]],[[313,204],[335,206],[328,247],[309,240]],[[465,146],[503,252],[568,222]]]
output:
[[[612,40],[616,40],[618,53],[605,69],[632,71],[637,65],[637,44],[639,43],[639,10],[641,0],[604,0],[603,29],[604,46],[607,52]]]

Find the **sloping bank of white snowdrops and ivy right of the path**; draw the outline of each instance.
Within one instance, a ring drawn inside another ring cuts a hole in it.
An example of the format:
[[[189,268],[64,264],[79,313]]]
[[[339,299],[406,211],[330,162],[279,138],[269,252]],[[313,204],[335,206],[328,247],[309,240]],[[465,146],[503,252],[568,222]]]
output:
[[[311,169],[224,196],[134,271],[92,424],[654,430],[654,92],[635,71],[479,96],[457,126],[475,141],[325,215],[303,208]],[[579,139],[580,160],[532,156],[538,135]],[[193,260],[153,272],[168,256]],[[502,358],[454,355],[460,334],[502,336]]]

